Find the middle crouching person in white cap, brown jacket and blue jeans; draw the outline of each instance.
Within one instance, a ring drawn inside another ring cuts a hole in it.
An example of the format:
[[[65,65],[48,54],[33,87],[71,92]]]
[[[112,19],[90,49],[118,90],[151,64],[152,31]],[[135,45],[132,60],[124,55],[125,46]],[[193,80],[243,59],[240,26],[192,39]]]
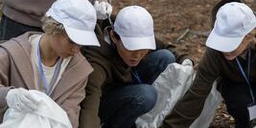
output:
[[[156,103],[152,82],[175,62],[167,49],[150,52],[156,49],[154,23],[143,7],[125,7],[112,27],[99,37],[101,47],[82,49],[94,71],[81,103],[80,128],[99,128],[100,123],[102,128],[134,128]]]

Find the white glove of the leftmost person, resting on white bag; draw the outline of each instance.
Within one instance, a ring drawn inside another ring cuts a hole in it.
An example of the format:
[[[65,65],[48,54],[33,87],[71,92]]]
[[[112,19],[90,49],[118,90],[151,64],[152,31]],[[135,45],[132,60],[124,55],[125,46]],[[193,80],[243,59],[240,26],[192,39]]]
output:
[[[30,95],[29,91],[23,88],[9,90],[6,96],[6,102],[9,108],[27,112],[37,110],[37,106],[39,105],[39,102]]]

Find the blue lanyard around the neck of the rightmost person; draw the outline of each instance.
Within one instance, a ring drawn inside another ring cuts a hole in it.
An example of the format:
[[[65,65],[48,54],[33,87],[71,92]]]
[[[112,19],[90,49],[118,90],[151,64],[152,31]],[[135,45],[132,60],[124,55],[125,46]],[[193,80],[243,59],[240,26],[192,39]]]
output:
[[[244,72],[244,69],[242,68],[238,58],[236,58],[236,63],[238,64],[239,70],[242,73],[242,75],[244,76],[244,79],[247,82],[247,85],[249,86],[250,96],[251,96],[251,98],[253,100],[253,103],[255,103],[255,99],[254,99],[254,96],[253,96],[253,90],[252,90],[251,84],[250,84],[251,49],[249,49],[249,55],[248,55],[248,74],[247,74],[248,76],[246,76],[246,74]]]

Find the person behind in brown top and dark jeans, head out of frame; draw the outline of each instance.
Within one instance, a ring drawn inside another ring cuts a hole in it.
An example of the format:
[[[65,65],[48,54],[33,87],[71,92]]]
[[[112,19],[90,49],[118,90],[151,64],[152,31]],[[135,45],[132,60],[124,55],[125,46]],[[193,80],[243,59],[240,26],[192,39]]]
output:
[[[2,0],[0,40],[9,40],[28,31],[43,32],[41,18],[56,0]],[[112,13],[111,0],[89,0],[97,18],[105,20]]]

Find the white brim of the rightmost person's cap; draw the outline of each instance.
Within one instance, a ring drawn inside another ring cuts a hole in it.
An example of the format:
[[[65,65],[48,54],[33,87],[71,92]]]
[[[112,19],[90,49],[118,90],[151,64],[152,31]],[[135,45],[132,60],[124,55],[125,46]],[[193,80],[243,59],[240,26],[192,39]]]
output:
[[[215,33],[214,29],[207,38],[206,46],[220,52],[232,52],[239,47],[243,41],[241,37],[224,37]]]

